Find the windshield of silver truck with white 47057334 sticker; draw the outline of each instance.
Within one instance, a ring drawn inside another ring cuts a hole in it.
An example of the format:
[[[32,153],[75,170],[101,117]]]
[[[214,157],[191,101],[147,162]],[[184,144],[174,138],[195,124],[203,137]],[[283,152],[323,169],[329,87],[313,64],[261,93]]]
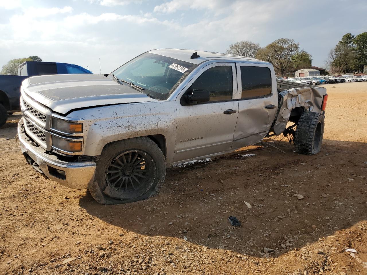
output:
[[[196,64],[146,52],[113,71],[115,77],[143,88],[156,99],[167,99]]]

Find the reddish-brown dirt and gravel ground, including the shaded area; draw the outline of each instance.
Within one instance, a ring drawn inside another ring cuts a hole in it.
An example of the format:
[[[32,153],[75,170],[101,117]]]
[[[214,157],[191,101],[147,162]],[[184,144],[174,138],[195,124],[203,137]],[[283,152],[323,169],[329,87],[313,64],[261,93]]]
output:
[[[367,274],[367,83],[325,87],[319,154],[264,139],[171,168],[156,197],[115,206],[26,165],[11,115],[0,129],[0,274]]]

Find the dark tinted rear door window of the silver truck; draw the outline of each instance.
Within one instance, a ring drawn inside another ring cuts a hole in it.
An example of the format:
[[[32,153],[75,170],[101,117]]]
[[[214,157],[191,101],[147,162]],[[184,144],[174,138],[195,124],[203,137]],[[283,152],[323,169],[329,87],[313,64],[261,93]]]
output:
[[[255,98],[272,93],[272,77],[267,67],[241,66],[242,96]]]

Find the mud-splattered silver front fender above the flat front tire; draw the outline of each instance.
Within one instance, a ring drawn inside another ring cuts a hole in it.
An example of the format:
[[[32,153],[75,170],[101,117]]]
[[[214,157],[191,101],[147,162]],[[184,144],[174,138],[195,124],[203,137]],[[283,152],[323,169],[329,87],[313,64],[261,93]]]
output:
[[[106,144],[132,137],[163,135],[167,164],[173,161],[177,112],[173,101],[117,104],[75,111],[84,118],[84,155],[100,155]]]

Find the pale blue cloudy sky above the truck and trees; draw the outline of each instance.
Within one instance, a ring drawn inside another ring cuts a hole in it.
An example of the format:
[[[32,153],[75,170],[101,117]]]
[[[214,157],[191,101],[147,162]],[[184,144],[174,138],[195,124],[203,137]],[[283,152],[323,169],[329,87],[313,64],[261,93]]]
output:
[[[156,48],[225,52],[291,38],[323,67],[346,33],[367,31],[364,1],[0,0],[0,68],[12,58],[73,63],[110,73]]]

